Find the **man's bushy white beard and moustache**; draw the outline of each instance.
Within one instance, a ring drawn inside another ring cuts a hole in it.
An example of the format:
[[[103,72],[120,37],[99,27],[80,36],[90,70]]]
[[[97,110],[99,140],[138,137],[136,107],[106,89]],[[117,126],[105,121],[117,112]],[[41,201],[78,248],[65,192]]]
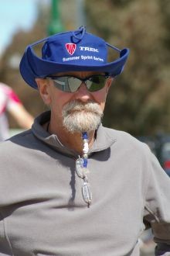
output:
[[[103,111],[96,102],[75,100],[63,107],[63,126],[70,133],[90,132],[97,130],[102,116]]]

